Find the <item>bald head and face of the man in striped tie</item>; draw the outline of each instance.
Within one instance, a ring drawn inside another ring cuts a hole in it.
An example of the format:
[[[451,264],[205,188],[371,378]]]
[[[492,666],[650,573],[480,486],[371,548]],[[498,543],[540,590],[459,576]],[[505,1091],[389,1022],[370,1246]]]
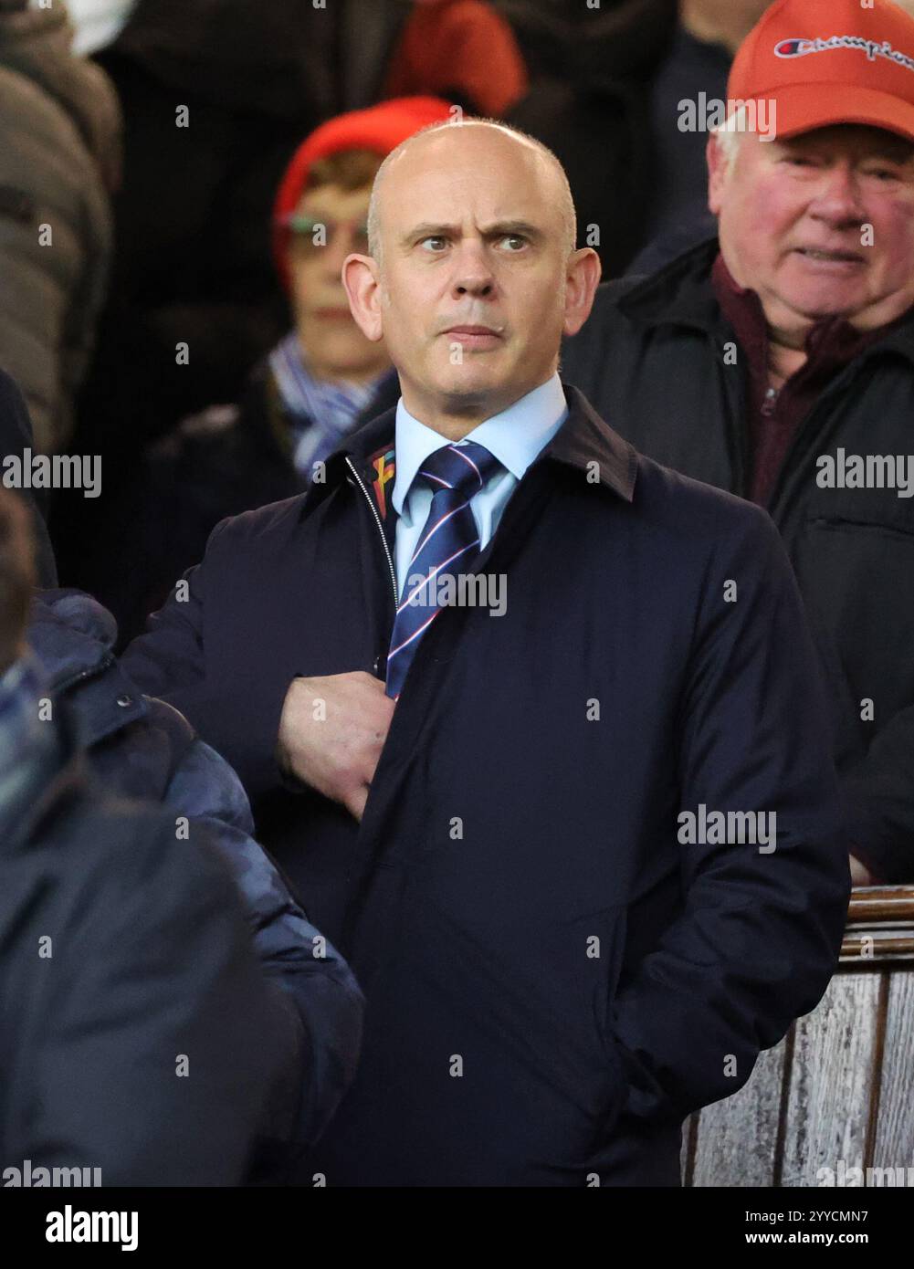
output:
[[[566,277],[593,255],[569,260],[560,189],[536,150],[480,126],[420,137],[387,171],[363,329],[382,330],[420,418],[486,418],[553,373],[580,299]]]

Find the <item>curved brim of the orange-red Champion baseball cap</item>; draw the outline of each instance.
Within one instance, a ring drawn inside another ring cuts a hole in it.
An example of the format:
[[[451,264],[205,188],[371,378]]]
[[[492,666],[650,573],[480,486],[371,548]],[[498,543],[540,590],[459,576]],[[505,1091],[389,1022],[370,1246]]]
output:
[[[768,114],[759,117],[759,122],[767,118],[767,131],[773,132],[776,140],[787,141],[838,123],[861,123],[914,142],[914,105],[878,89],[852,84],[792,84],[758,96],[776,105],[774,119],[771,104]]]

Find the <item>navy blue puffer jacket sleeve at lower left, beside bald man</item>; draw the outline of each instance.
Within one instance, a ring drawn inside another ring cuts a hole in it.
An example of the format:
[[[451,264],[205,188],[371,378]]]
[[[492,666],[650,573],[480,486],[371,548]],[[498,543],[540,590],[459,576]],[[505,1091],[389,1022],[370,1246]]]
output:
[[[175,812],[175,832],[203,820],[244,896],[264,972],[274,980],[295,1037],[288,1079],[277,1088],[267,1136],[286,1145],[316,1140],[348,1088],[362,1036],[363,996],[345,961],[295,902],[253,839],[248,797],[235,772],[171,706],[145,697],[112,647],[110,613],[79,590],[39,591],[29,645],[47,673],[53,704],[65,702],[96,778],[124,797]],[[292,1004],[293,1009],[288,1009]],[[288,1127],[292,1126],[291,1132]],[[281,1164],[282,1152],[262,1166]]]

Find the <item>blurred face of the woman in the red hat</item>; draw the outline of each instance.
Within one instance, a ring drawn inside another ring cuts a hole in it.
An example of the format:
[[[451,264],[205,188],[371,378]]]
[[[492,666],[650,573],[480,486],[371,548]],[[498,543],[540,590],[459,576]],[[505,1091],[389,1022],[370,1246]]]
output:
[[[289,240],[288,264],[292,306],[298,339],[311,371],[321,379],[362,381],[374,378],[390,365],[385,345],[366,339],[353,321],[340,279],[343,260],[350,251],[366,251],[364,232],[371,188],[345,190],[321,185],[306,193],[296,217],[324,226],[315,232],[302,227]]]

